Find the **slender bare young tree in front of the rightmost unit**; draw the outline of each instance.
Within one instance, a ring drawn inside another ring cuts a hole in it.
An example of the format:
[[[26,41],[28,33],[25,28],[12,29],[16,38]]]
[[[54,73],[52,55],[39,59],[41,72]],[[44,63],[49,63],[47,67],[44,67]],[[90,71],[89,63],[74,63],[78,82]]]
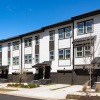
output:
[[[100,39],[96,40],[96,36],[92,36],[90,34],[89,38],[85,41],[85,57],[83,58],[85,63],[85,69],[87,69],[89,73],[89,85],[90,85],[90,95],[91,95],[91,80],[92,80],[92,74],[94,72],[94,67],[98,64],[99,59],[94,63],[93,60],[96,57],[100,56]],[[90,50],[90,52],[89,52]],[[98,50],[98,55],[96,54]]]

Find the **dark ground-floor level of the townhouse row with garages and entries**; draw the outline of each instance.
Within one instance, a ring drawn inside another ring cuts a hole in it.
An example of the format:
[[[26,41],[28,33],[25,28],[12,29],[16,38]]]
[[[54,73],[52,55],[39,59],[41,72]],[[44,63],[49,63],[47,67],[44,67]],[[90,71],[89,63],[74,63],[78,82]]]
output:
[[[41,84],[58,83],[58,84],[77,84],[83,85],[90,80],[90,73],[87,69],[74,70],[57,70],[51,72],[50,62],[40,63],[32,66],[37,70],[34,74],[32,71],[26,73],[12,73],[9,74],[9,66],[2,66],[0,69],[0,80],[7,79],[9,82],[37,82],[42,81]],[[21,79],[22,78],[22,79]],[[91,73],[92,85],[100,81],[100,69],[94,69]]]

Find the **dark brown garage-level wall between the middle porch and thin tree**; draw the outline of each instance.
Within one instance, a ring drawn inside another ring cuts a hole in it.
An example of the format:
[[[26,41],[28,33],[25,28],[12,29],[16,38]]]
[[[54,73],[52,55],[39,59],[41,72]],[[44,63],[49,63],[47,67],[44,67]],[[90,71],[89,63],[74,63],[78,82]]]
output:
[[[83,73],[74,72],[72,75],[72,71],[58,71],[57,73],[51,73],[51,79],[52,82],[58,84],[84,85],[85,82],[89,81],[89,75]]]

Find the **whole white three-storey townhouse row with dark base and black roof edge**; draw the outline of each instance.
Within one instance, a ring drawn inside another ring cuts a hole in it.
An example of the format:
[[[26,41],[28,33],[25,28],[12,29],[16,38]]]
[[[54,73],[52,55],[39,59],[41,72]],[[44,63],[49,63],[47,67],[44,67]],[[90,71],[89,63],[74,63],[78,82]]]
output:
[[[100,77],[100,10],[0,40],[0,78],[84,84]]]

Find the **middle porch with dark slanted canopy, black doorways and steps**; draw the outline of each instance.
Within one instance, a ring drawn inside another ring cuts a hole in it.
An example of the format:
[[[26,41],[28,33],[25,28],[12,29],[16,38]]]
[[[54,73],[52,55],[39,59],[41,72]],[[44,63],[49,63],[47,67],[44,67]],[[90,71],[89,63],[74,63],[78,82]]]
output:
[[[48,84],[51,83],[51,61],[44,61],[42,63],[38,63],[33,68],[36,69],[36,73],[34,75],[34,80],[31,83],[38,84]]]

